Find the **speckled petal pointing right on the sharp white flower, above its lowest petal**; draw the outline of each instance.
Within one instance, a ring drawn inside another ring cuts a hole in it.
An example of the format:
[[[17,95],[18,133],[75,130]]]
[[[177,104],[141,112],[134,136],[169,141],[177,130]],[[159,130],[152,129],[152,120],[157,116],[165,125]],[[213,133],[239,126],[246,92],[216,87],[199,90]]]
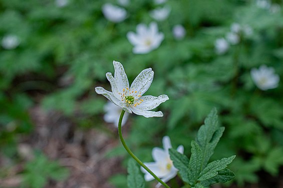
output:
[[[160,95],[158,97],[154,97],[151,95],[142,96],[139,98],[143,100],[142,103],[136,106],[137,109],[140,110],[152,110],[159,106],[161,103],[167,101],[169,98],[167,95]]]

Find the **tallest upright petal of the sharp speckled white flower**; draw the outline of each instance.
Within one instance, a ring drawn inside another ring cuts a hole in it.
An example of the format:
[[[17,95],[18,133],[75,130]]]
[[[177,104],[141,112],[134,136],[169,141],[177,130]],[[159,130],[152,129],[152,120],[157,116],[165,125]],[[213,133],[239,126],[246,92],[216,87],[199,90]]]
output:
[[[123,89],[129,88],[128,77],[125,73],[124,67],[120,62],[113,61],[115,73],[114,78],[116,80],[117,88],[120,93],[123,93]]]

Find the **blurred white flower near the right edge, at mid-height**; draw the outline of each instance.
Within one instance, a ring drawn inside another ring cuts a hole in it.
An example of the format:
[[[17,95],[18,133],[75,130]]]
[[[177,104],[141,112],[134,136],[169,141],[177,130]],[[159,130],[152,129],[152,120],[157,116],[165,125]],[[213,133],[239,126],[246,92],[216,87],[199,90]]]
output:
[[[261,65],[259,69],[251,69],[250,75],[255,85],[261,90],[273,89],[278,86],[279,76],[274,74],[272,67]]]

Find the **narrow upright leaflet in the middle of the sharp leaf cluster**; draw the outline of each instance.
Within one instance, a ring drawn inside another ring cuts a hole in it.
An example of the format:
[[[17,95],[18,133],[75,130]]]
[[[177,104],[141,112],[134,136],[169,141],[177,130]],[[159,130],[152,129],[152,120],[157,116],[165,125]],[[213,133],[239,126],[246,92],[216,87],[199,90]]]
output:
[[[199,145],[195,142],[191,142],[191,157],[189,161],[189,171],[188,171],[188,180],[191,185],[196,183],[197,178],[201,170],[202,164],[202,151]]]

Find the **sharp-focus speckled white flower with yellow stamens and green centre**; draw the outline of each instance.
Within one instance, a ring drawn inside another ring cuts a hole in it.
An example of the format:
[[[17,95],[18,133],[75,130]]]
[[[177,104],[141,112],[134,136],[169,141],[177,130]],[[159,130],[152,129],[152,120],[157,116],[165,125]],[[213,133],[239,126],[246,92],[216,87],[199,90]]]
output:
[[[96,87],[96,93],[102,94],[126,112],[134,112],[144,117],[162,117],[163,113],[161,111],[154,112],[150,110],[168,100],[168,96],[142,96],[148,90],[153,80],[154,72],[151,68],[143,70],[133,81],[131,87],[129,87],[129,81],[122,64],[113,61],[113,65],[115,70],[114,77],[111,73],[106,73],[106,77],[111,84],[112,92],[102,87]]]

